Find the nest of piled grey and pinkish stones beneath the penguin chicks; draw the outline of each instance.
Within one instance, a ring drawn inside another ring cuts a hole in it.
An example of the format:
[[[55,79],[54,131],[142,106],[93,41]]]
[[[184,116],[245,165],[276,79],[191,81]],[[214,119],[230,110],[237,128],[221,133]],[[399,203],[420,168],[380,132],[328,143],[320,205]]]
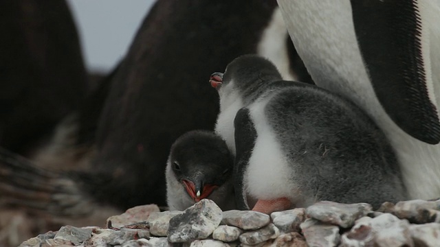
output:
[[[107,228],[63,226],[20,246],[440,246],[440,200],[317,202],[271,215],[224,211],[203,199],[185,211],[155,205],[110,217]]]

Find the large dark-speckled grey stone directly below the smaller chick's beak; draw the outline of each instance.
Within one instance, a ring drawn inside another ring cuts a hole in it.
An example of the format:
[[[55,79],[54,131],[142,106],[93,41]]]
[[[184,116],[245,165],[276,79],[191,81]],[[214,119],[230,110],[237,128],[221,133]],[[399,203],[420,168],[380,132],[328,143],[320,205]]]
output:
[[[171,218],[168,227],[168,241],[190,242],[204,239],[219,226],[221,209],[212,200],[203,199],[179,215]]]

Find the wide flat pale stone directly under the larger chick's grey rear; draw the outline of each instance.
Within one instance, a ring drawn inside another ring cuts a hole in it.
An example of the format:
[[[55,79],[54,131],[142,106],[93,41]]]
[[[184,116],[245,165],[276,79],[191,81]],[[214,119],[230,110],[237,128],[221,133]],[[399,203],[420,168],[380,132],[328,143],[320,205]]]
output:
[[[355,220],[364,217],[373,208],[367,203],[342,204],[338,202],[316,202],[306,209],[306,214],[321,222],[336,224],[343,228],[353,226]]]

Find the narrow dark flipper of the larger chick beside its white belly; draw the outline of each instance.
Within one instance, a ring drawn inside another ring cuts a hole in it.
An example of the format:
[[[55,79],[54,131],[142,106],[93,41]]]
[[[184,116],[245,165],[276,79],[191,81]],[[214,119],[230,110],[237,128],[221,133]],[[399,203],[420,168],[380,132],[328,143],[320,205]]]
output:
[[[250,210],[244,185],[244,174],[249,165],[256,141],[256,130],[248,108],[241,108],[234,119],[236,156],[234,161],[234,190],[238,209]]]

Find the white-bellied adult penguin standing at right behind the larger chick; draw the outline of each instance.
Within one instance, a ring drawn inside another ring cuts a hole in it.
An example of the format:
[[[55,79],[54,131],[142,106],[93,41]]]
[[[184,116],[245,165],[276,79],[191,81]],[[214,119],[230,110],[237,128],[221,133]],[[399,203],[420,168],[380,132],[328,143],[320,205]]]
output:
[[[440,1],[278,0],[318,86],[390,139],[412,198],[440,196]]]

